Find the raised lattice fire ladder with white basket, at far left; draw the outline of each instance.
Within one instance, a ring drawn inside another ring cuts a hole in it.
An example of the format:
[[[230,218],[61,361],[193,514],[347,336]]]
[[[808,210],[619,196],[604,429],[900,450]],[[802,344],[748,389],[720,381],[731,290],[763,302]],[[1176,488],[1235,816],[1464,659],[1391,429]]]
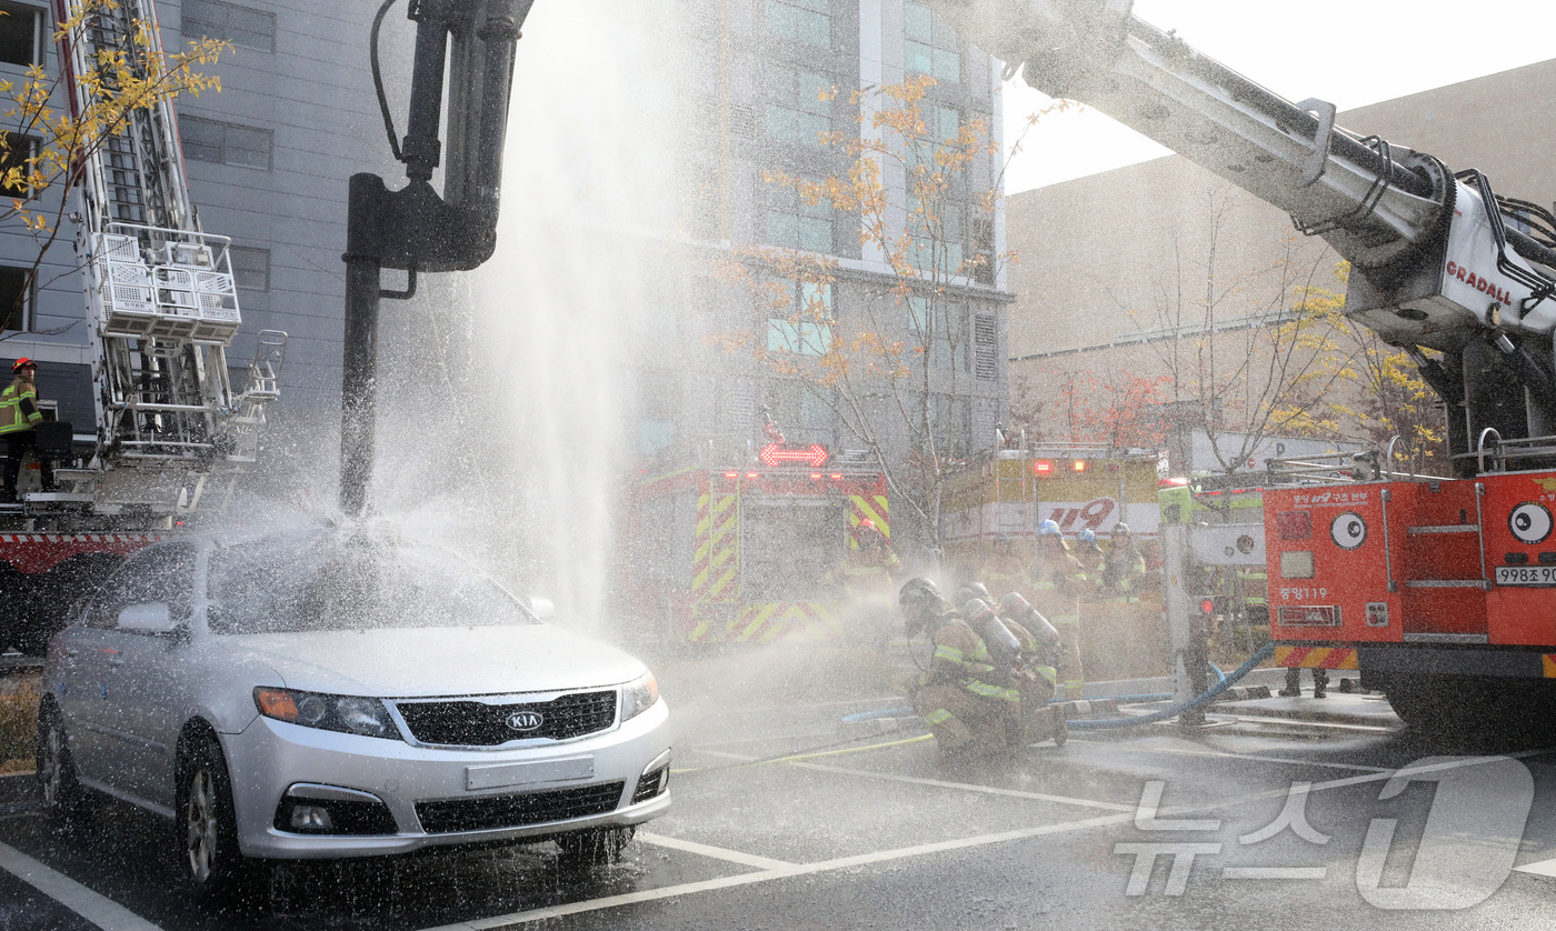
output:
[[[79,2],[58,0],[56,12],[70,16]],[[98,68],[100,53],[128,50],[135,62],[137,42],[160,54],[152,0],[95,8],[84,30],[62,37],[61,54],[84,75]],[[112,87],[110,71],[101,78]],[[78,118],[93,106],[79,82],[70,95]],[[233,392],[226,350],[241,316],[230,239],[205,233],[188,202],[170,101],[129,112],[87,154],[81,180],[78,253],[90,256],[84,280],[101,350],[93,365],[98,437],[90,468],[61,477],[90,488],[107,511],[209,505],[212,479],[226,480],[230,494],[232,479],[254,462],[286,334],[258,334],[247,384]]]

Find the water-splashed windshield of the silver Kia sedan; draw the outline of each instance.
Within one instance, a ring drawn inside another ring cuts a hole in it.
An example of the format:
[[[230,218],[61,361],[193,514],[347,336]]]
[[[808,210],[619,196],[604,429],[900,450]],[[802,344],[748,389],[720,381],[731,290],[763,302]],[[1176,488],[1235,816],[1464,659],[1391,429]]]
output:
[[[218,634],[538,623],[451,553],[345,533],[219,547],[209,594]]]

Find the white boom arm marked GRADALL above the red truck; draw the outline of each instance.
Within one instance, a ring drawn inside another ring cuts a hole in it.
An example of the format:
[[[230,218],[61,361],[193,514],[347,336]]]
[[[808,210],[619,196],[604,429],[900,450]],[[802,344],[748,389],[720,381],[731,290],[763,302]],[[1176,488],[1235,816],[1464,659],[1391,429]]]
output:
[[[1113,117],[1333,246],[1352,264],[1346,314],[1416,357],[1447,403],[1461,471],[1488,427],[1556,434],[1550,211],[1335,126],[1332,104],[1260,87],[1134,17],[1133,0],[930,2],[1036,90]]]

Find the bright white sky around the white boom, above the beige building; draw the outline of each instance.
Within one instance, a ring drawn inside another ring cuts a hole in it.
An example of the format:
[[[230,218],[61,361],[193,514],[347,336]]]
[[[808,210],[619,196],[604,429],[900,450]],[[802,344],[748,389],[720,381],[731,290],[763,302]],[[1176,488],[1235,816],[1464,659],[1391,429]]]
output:
[[[1474,12],[1470,12],[1474,11]],[[1347,110],[1556,58],[1556,0],[1134,0],[1134,16],[1270,90]],[[1050,101],[1004,89],[1005,145]],[[1530,113],[1544,120],[1547,113]],[[1343,124],[1343,121],[1341,121]],[[1365,126],[1347,126],[1366,132]],[[1050,113],[1005,173],[1016,194],[1170,154],[1095,110]]]

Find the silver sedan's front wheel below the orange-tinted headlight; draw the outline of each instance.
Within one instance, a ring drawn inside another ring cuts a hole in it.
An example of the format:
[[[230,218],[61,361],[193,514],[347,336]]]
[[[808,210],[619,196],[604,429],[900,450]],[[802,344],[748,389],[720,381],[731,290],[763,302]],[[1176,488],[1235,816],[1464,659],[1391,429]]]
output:
[[[187,740],[177,766],[174,838],[191,898],[210,905],[237,903],[255,884],[258,864],[238,849],[232,777],[216,738]]]

